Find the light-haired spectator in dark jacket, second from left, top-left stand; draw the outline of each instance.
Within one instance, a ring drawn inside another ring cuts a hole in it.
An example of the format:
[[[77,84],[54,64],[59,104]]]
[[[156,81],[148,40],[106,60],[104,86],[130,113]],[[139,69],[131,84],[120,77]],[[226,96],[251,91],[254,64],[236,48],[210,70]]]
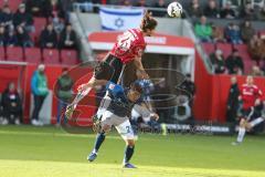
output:
[[[30,13],[25,12],[25,4],[21,3],[19,10],[14,13],[13,23],[15,28],[22,25],[28,32],[34,32],[33,18]]]

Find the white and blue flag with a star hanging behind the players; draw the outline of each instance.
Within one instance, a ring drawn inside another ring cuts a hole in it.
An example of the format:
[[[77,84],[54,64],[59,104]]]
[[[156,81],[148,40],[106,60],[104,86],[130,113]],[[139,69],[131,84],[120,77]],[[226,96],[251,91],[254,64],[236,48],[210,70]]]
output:
[[[113,9],[100,8],[102,29],[105,31],[126,31],[128,29],[139,28],[144,9]]]

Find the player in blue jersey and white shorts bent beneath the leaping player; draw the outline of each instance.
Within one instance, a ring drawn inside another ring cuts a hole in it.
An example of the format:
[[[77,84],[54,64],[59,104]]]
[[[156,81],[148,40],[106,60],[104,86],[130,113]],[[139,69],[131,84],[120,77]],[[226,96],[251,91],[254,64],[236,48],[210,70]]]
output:
[[[129,163],[135,149],[135,137],[129,116],[134,105],[141,97],[142,87],[138,82],[134,82],[130,85],[130,88],[123,88],[120,85],[107,82],[106,90],[109,92],[110,104],[103,113],[99,122],[100,128],[96,136],[94,149],[88,155],[87,159],[89,162],[96,159],[98,149],[105,139],[105,134],[110,131],[112,126],[115,126],[126,142],[123,166],[125,168],[136,168]]]

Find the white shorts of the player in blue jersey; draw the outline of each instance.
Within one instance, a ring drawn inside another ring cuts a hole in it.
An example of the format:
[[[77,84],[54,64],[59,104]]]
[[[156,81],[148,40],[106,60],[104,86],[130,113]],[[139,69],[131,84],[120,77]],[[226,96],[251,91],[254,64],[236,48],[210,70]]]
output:
[[[102,126],[104,127],[107,125],[109,129],[112,126],[115,126],[115,128],[118,131],[119,135],[126,140],[126,139],[134,139],[134,131],[130,125],[129,118],[128,117],[119,117],[115,115],[114,113],[106,111],[103,114]]]

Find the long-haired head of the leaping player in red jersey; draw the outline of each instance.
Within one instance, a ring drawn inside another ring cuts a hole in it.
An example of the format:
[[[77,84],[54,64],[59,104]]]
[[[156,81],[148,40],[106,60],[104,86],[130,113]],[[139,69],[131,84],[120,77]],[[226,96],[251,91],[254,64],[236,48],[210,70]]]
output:
[[[155,32],[156,27],[157,20],[152,18],[150,12],[146,11],[140,24],[141,31],[144,31],[145,35],[151,37]]]

